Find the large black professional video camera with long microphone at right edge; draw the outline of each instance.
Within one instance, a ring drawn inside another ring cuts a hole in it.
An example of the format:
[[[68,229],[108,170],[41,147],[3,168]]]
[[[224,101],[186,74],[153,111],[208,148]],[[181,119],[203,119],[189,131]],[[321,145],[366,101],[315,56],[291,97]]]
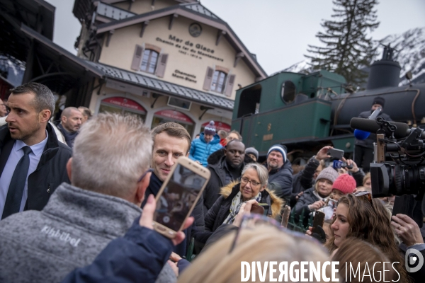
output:
[[[353,118],[351,127],[377,134],[374,163],[370,163],[373,197],[416,195],[425,192],[424,129],[404,123]],[[389,156],[392,161],[385,161]],[[425,207],[425,206],[423,206]]]

